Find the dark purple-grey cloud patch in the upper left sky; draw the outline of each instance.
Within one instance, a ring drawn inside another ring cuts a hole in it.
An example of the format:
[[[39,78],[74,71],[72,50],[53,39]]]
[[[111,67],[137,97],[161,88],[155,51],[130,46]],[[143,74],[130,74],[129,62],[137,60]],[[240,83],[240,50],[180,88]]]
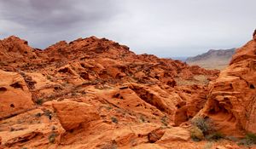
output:
[[[83,8],[77,7],[82,1],[71,0],[10,0],[3,1],[2,18],[15,21],[28,29],[43,31],[60,31],[73,27],[80,22],[92,26],[98,20],[109,17],[111,11],[102,8],[101,11],[93,9],[99,1],[87,1]]]

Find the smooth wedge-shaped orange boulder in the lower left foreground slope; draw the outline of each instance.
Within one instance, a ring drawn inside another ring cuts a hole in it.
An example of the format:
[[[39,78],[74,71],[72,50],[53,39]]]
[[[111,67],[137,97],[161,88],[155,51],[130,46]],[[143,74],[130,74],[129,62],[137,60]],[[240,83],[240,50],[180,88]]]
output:
[[[61,126],[66,130],[76,129],[81,123],[100,119],[95,106],[82,102],[63,100],[54,102],[53,107],[60,119]]]

